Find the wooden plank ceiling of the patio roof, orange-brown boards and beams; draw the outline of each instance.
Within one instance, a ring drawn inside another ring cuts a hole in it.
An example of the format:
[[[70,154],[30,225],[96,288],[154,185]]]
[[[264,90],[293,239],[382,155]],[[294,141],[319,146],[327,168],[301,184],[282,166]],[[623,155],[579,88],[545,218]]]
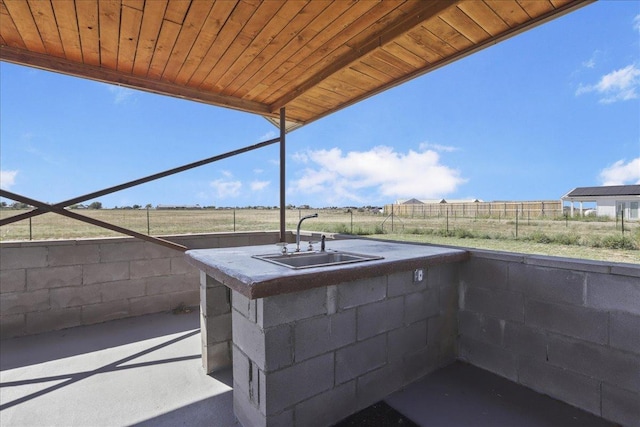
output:
[[[0,0],[0,59],[305,124],[589,2]]]

